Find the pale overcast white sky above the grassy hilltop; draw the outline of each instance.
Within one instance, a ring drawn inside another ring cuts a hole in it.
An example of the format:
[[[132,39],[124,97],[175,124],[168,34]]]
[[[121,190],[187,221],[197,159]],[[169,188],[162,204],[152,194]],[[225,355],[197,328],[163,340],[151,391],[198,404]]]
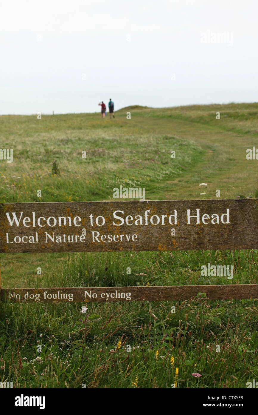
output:
[[[0,0],[0,114],[257,102],[257,12],[257,0]]]

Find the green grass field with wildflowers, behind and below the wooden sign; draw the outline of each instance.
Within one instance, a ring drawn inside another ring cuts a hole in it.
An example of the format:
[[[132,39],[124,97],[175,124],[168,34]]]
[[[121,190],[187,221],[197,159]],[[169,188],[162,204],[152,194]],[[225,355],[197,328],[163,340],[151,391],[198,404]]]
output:
[[[258,148],[258,103],[132,106],[115,115],[0,116],[0,148],[13,149],[12,163],[0,160],[0,203],[113,200],[119,185],[145,188],[146,200],[216,199],[218,189],[222,199],[258,197],[258,161],[246,159]],[[257,283],[257,260],[258,249],[0,254],[3,288]],[[201,277],[207,262],[234,265],[233,280]],[[258,381],[257,305],[90,303],[84,314],[80,303],[1,304],[0,382],[246,388]]]

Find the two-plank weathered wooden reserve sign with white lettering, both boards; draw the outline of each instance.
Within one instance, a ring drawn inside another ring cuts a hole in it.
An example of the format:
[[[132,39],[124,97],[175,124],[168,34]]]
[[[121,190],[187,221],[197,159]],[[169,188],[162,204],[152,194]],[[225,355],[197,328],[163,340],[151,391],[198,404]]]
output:
[[[257,249],[258,200],[0,204],[0,252]],[[258,298],[258,285],[1,289],[1,301]]]

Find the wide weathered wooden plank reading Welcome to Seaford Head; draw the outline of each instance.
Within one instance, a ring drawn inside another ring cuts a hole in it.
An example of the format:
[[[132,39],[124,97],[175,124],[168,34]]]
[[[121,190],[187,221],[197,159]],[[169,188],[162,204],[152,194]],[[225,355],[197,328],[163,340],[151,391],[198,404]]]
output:
[[[251,248],[257,199],[0,204],[0,252]]]

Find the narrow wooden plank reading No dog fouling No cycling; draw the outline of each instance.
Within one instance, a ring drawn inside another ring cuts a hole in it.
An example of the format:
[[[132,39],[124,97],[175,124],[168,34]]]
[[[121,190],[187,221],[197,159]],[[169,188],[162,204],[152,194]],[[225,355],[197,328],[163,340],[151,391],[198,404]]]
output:
[[[206,293],[206,298],[258,299],[258,284],[215,286],[158,286],[158,287],[84,287],[84,288],[14,288],[1,289],[1,301],[15,302],[101,302],[101,301],[158,301],[189,300]]]

